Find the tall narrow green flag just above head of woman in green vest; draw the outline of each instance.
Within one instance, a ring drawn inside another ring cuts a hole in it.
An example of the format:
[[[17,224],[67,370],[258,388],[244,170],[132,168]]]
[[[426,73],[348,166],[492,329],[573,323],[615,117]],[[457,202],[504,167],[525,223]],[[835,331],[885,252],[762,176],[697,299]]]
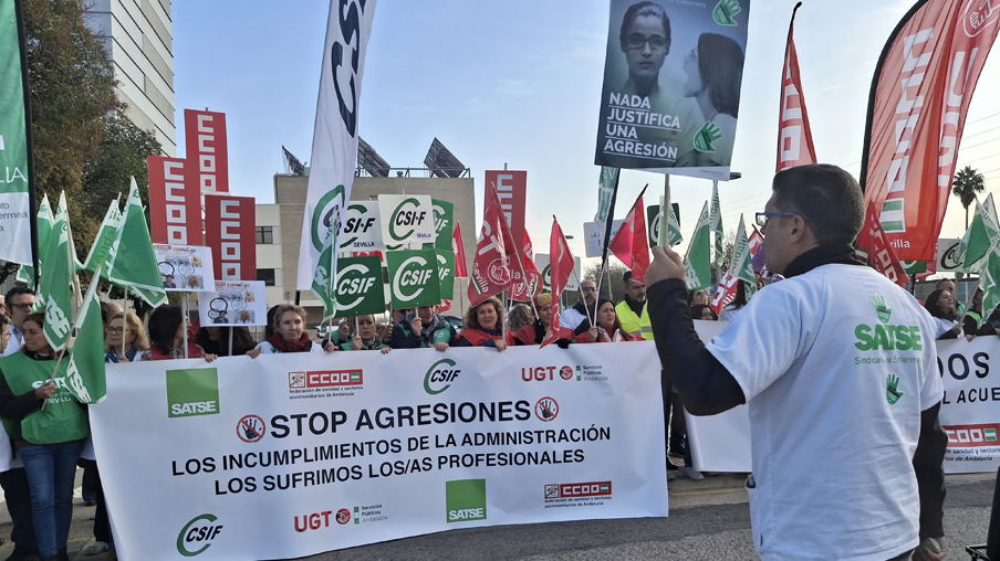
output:
[[[62,350],[70,338],[72,322],[73,275],[76,274],[70,255],[70,218],[66,211],[66,194],[59,197],[55,224],[45,244],[45,260],[39,278],[39,295],[45,301],[45,339],[53,350]]]

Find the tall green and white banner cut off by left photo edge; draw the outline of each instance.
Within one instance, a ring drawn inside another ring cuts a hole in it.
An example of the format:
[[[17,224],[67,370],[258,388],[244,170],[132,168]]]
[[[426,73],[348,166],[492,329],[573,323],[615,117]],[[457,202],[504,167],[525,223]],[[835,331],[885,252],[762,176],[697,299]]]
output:
[[[0,2],[0,260],[31,265],[30,147],[15,6]]]

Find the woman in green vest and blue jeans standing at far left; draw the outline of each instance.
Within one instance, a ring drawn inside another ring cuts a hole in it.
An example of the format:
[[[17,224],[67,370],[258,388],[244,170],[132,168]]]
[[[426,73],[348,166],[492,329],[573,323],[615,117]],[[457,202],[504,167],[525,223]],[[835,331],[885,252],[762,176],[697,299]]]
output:
[[[24,462],[39,559],[69,561],[73,481],[88,434],[87,415],[66,385],[56,389],[51,382],[53,375],[67,378],[69,361],[53,360],[44,320],[41,313],[28,316],[24,349],[0,362],[0,416]]]

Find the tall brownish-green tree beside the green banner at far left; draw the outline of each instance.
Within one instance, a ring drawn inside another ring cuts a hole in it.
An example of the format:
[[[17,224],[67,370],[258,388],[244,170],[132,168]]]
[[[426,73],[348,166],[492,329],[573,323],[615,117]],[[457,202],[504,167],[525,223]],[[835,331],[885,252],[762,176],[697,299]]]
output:
[[[77,248],[90,247],[104,218],[104,210],[84,210],[84,162],[101,141],[107,114],[124,108],[104,42],[86,27],[84,8],[80,0],[23,3],[38,199],[58,201],[66,192]]]

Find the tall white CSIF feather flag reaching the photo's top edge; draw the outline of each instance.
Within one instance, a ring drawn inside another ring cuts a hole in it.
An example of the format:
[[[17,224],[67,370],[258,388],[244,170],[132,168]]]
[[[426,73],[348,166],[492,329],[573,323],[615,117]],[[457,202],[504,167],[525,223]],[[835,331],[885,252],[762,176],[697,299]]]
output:
[[[326,237],[332,231],[336,234],[330,226],[344,223],[351,200],[357,167],[357,104],[374,15],[375,0],[330,2],[299,246],[296,288],[300,290],[313,289]],[[333,272],[336,271],[336,252],[332,252],[331,257],[326,271]]]

